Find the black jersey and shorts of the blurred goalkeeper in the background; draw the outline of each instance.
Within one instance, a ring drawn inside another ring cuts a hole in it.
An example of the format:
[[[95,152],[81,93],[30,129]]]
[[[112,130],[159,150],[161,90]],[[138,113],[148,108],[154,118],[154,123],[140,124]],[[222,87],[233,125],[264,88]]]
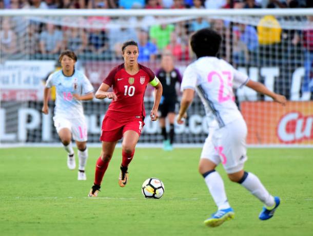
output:
[[[168,113],[175,112],[175,104],[177,102],[177,94],[175,84],[182,82],[182,76],[177,69],[166,73],[162,68],[156,73],[156,76],[161,81],[163,94],[160,101],[159,111],[161,117],[165,118]]]

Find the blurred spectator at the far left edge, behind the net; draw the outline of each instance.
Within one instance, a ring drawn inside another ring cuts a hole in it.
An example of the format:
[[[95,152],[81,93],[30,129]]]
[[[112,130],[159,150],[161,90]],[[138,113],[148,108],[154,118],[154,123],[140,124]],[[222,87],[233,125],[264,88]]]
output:
[[[16,34],[12,30],[9,18],[4,18],[2,21],[2,29],[0,31],[0,45],[4,56],[11,56],[17,51]]]

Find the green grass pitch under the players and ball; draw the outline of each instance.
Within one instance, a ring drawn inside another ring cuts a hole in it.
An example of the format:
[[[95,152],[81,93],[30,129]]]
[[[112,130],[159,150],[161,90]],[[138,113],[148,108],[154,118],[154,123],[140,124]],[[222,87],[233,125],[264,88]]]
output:
[[[313,235],[312,149],[248,150],[245,169],[281,197],[275,216],[264,222],[258,219],[261,202],[231,183],[219,166],[236,215],[217,228],[203,224],[216,206],[198,174],[200,153],[200,148],[137,148],[129,183],[121,188],[117,148],[99,198],[87,198],[100,148],[89,148],[87,181],[77,181],[77,172],[67,169],[61,147],[0,149],[0,234]],[[164,182],[162,199],[142,196],[141,185],[149,177]]]

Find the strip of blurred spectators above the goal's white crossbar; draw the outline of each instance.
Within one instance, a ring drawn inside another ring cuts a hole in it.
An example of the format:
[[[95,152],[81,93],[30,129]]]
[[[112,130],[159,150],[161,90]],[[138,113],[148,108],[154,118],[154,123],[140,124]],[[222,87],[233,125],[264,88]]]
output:
[[[96,8],[266,8],[269,4],[278,8],[310,7],[310,0],[0,0],[5,9],[96,9]]]

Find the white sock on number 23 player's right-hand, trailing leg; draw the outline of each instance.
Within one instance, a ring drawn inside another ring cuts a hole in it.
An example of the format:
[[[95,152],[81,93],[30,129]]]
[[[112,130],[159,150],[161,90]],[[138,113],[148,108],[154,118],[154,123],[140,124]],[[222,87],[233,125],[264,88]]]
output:
[[[275,205],[273,196],[269,194],[266,188],[263,186],[259,178],[253,175],[251,172],[248,173],[246,179],[241,183],[251,194],[256,196],[266,206],[272,207]]]

